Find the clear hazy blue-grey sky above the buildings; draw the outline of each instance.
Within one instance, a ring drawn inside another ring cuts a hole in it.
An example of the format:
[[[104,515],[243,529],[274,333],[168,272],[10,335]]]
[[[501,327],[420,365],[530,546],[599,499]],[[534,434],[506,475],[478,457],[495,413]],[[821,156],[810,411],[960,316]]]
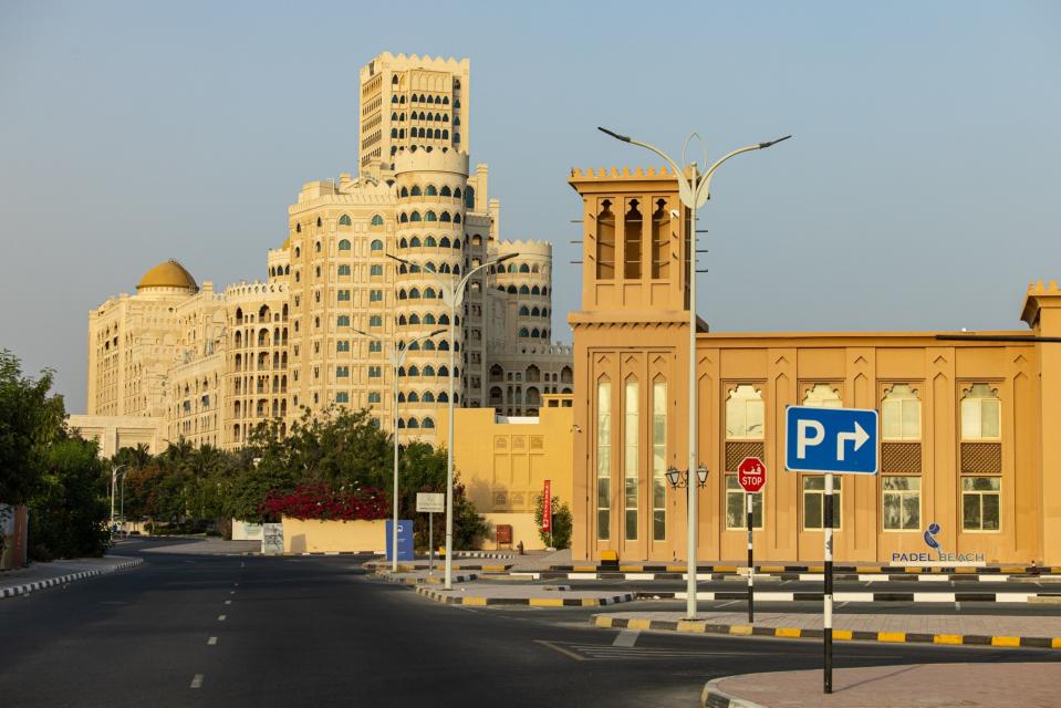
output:
[[[517,9],[517,8],[526,8]],[[502,237],[554,244],[572,166],[728,163],[705,223],[716,331],[1023,329],[1061,279],[1057,2],[0,2],[0,347],[84,410],[87,312],[166,258],[264,278],[304,181],[356,173],[358,69],[471,60]],[[701,223],[701,227],[704,223]]]

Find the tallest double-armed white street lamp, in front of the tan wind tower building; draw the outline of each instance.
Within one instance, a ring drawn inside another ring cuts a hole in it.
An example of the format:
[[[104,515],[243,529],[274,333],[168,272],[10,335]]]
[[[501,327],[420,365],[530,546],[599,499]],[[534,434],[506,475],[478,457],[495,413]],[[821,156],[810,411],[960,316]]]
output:
[[[648,145],[647,143],[642,143],[635,140],[628,135],[620,135],[618,133],[613,133],[607,128],[599,127],[599,131],[611,135],[617,140],[624,143],[630,143],[631,145],[638,145],[645,149],[649,149],[659,157],[667,160],[667,164],[670,165],[674,170],[674,177],[678,183],[678,197],[682,199],[682,204],[685,205],[690,211],[689,218],[689,469],[699,469],[699,460],[697,459],[697,381],[696,381],[696,209],[697,207],[704,206],[711,195],[711,178],[715,176],[715,171],[718,167],[728,160],[730,157],[736,157],[741,153],[750,153],[751,150],[761,150],[771,145],[776,145],[782,140],[787,140],[791,135],[786,135],[784,137],[778,138],[776,140],[770,140],[768,143],[756,143],[755,145],[747,145],[745,147],[737,148],[731,153],[727,153],[719,157],[715,163],[708,168],[706,173],[700,174],[696,169],[696,162],[688,163],[686,165],[688,169],[688,177],[686,177],[686,169],[678,167],[670,156],[660,150],[657,147]],[[700,139],[700,136],[694,133],[685,142],[685,147],[682,148],[682,162],[685,163],[685,150],[688,149],[689,143],[693,138]],[[705,154],[704,163],[707,164],[707,155]],[[687,472],[686,472],[687,473]],[[688,579],[687,579],[687,604],[686,604],[686,618],[696,620],[696,487],[688,485],[688,525],[689,525],[689,541],[688,541]]]

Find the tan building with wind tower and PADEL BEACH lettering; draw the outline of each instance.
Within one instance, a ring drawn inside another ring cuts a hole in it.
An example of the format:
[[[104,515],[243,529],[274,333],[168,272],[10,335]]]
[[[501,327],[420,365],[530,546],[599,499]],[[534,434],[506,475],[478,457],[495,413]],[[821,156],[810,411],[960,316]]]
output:
[[[685,558],[688,467],[688,211],[672,174],[572,173],[583,201],[583,298],[574,329],[574,559]],[[696,335],[698,553],[745,556],[737,466],[760,457],[756,558],[820,562],[823,478],[784,469],[790,405],[874,408],[876,476],[836,476],[834,554],[895,562],[929,551],[987,563],[1061,563],[1061,290],[1033,283],[1031,331]],[[982,336],[987,335],[987,336]],[[1023,337],[1023,341],[1021,340]]]

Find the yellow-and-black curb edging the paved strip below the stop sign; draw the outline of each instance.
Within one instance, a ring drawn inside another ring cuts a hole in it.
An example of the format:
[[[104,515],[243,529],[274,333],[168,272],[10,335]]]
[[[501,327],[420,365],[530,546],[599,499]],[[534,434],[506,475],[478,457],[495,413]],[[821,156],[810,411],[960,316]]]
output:
[[[757,627],[748,624],[709,624],[691,620],[637,620],[593,615],[593,626],[611,629],[654,629],[682,634],[726,634],[730,636],[773,637],[778,639],[821,639],[822,629],[800,627]],[[887,644],[946,644],[951,646],[1022,647],[1061,649],[1061,637],[1011,637],[982,634],[920,634],[916,632],[859,632],[833,629],[838,642],[882,642]]]

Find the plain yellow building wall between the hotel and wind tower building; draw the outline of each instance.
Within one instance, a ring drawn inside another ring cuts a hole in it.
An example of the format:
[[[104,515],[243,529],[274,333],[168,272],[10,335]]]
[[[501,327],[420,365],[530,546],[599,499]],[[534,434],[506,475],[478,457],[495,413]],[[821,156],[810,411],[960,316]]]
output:
[[[571,395],[544,395],[537,418],[499,418],[492,408],[457,408],[454,466],[468,498],[490,524],[483,548],[492,549],[495,527],[512,524],[512,544],[544,548],[538,535],[534,501],[544,481],[552,496],[573,510],[573,408]],[[448,439],[439,420],[438,440]]]

